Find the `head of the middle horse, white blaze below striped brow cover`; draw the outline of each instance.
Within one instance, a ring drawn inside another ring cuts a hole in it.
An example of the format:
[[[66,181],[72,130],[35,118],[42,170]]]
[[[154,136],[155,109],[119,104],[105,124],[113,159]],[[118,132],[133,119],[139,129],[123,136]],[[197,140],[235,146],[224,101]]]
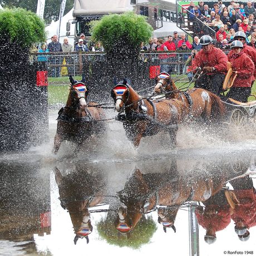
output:
[[[124,111],[125,104],[130,96],[130,85],[129,80],[124,79],[119,83],[115,82],[116,87],[111,91],[111,97],[115,101],[115,109],[117,112],[121,113]]]

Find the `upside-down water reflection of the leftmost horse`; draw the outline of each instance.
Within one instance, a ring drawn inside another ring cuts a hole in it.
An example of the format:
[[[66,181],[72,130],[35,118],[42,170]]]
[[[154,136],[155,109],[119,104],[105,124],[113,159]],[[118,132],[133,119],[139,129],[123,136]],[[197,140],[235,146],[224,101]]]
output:
[[[56,183],[60,193],[63,209],[67,209],[75,230],[74,243],[79,238],[86,238],[91,234],[93,227],[89,208],[101,204],[104,200],[105,179],[101,172],[93,173],[85,167],[77,167],[76,171],[63,176],[55,167]]]

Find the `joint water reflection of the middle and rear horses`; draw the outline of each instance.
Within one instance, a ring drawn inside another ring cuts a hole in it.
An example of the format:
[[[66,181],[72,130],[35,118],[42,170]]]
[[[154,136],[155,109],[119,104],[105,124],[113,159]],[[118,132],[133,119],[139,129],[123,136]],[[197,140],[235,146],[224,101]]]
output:
[[[165,232],[167,228],[175,232],[174,223],[180,206],[190,201],[208,200],[230,178],[237,176],[229,163],[193,166],[188,161],[189,169],[180,168],[183,163],[173,161],[170,171],[161,174],[142,174],[135,169],[124,190],[119,192],[120,201],[124,204],[119,208],[115,221],[119,237],[125,234],[129,238],[141,216],[152,210],[157,210],[158,221]]]

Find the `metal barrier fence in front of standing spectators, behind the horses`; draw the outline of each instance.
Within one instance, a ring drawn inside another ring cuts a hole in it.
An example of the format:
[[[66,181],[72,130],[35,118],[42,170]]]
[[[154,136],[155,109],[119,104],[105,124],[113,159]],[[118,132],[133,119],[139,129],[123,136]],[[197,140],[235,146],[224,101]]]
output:
[[[139,60],[134,63],[137,72],[144,79],[155,78],[162,71],[172,75],[181,75],[188,70],[190,60],[193,60],[191,52],[186,51],[160,51],[140,53]],[[60,77],[72,75],[81,76],[97,75],[102,66],[107,65],[104,52],[90,52],[77,54],[71,53],[32,53],[31,62],[44,62],[47,67],[48,77]]]

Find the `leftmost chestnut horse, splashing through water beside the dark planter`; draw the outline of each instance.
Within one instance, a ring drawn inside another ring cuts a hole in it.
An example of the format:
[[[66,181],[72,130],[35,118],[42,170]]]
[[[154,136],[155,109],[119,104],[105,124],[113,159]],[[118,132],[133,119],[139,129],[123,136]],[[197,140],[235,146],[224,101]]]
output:
[[[105,119],[104,110],[97,107],[96,103],[86,103],[88,91],[84,81],[74,81],[70,76],[70,82],[67,104],[58,112],[53,154],[60,149],[63,140],[75,142],[77,152],[84,140],[106,130],[104,121],[101,121]]]

